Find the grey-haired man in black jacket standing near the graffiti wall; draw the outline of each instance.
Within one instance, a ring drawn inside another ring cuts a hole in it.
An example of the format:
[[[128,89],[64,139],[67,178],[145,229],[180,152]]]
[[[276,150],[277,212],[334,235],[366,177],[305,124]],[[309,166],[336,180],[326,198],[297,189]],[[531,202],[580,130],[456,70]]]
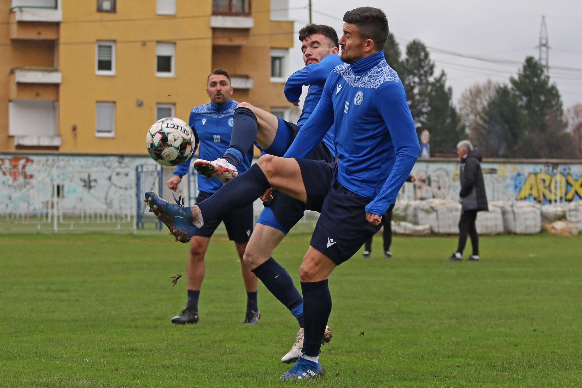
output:
[[[463,259],[467,234],[471,236],[471,245],[473,246],[473,254],[467,260],[478,260],[479,236],[475,228],[475,220],[477,220],[477,212],[488,210],[485,182],[481,171],[483,157],[477,149],[473,149],[473,145],[469,140],[459,141],[457,155],[461,158],[459,174],[461,192],[459,197],[463,207],[459,221],[459,247],[447,260],[460,261]]]

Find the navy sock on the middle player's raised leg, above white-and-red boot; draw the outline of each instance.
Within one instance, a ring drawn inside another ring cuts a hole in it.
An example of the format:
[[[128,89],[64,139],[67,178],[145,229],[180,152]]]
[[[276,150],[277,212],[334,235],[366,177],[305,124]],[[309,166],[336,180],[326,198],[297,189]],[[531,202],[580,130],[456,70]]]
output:
[[[226,149],[222,158],[229,161],[235,167],[240,166],[242,155],[246,154],[257,138],[257,116],[249,108],[236,108],[233,116],[234,124],[230,135],[230,145]],[[229,152],[229,149],[231,152]],[[239,154],[232,152],[232,149],[239,151]]]

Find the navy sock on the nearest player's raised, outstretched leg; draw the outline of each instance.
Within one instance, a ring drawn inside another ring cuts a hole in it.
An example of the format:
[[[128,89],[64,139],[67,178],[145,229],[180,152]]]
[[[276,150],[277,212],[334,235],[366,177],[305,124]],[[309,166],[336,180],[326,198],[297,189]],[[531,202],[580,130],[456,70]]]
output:
[[[216,193],[200,202],[198,208],[205,220],[222,218],[234,209],[252,204],[269,187],[269,180],[255,163],[246,172],[223,184]]]

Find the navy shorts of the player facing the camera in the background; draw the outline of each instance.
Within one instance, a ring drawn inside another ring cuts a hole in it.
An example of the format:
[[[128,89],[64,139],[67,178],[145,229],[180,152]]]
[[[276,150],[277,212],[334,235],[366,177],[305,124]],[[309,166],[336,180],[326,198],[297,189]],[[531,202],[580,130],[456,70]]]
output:
[[[212,193],[200,191],[196,197],[196,204],[210,197]],[[194,232],[194,236],[211,237],[218,225],[224,222],[228,239],[235,243],[246,243],[253,233],[253,205],[237,208],[230,213],[226,213],[222,219],[204,220],[204,226]]]

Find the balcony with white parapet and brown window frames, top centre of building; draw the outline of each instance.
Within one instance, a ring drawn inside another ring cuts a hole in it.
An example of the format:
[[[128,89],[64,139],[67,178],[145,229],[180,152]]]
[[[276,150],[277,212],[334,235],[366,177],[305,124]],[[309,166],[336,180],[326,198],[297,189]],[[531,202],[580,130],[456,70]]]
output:
[[[210,27],[213,29],[251,29],[250,0],[212,0]]]

